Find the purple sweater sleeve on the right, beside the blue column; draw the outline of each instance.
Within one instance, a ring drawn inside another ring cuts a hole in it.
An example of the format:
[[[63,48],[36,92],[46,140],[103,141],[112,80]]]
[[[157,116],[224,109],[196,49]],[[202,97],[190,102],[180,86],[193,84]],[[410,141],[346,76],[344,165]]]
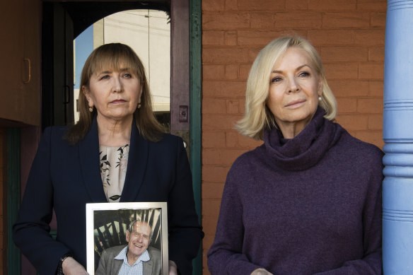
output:
[[[383,153],[372,156],[370,182],[363,208],[363,258],[344,262],[342,267],[317,275],[377,275],[382,274],[382,182]]]

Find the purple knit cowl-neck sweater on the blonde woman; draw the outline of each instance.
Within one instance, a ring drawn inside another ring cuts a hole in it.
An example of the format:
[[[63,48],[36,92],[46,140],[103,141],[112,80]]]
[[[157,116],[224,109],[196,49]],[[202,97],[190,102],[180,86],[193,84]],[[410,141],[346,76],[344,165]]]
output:
[[[266,131],[235,160],[211,274],[381,274],[383,152],[323,115],[294,139]]]

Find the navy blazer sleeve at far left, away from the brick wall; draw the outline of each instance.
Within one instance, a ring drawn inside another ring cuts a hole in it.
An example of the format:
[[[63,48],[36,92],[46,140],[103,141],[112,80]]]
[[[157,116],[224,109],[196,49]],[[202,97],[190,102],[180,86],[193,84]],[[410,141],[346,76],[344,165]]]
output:
[[[28,177],[13,240],[40,274],[54,274],[60,257],[70,252],[50,236],[53,187],[50,177],[51,129],[43,134]]]

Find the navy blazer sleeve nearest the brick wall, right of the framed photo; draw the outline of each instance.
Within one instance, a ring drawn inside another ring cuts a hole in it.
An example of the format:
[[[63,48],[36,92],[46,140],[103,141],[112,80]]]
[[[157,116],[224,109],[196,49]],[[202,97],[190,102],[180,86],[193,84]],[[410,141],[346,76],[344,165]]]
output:
[[[177,139],[175,182],[168,197],[169,259],[180,274],[192,274],[192,259],[197,257],[204,237],[195,211],[192,174],[182,139]]]

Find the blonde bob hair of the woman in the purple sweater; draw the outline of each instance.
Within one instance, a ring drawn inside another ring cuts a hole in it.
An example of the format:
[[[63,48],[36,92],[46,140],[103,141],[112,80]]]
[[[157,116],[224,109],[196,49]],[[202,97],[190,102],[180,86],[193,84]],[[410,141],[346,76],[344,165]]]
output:
[[[325,110],[324,117],[326,119],[335,119],[337,103],[327,84],[318,52],[310,45],[310,42],[302,37],[279,37],[265,46],[252,64],[245,93],[245,115],[243,119],[235,124],[235,129],[243,136],[262,140],[264,129],[277,127],[274,115],[266,105],[269,93],[269,78],[274,64],[281,61],[286,50],[290,47],[303,49],[310,57],[313,62],[312,65],[322,81],[322,99],[319,105]]]

